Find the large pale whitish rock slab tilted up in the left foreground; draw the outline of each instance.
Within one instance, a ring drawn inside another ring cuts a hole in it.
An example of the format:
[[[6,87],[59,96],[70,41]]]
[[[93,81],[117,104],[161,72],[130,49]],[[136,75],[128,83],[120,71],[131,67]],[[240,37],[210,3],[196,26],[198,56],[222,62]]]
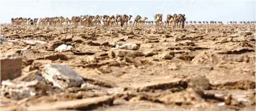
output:
[[[42,76],[61,89],[78,87],[83,83],[83,78],[75,73],[69,65],[64,64],[52,63],[43,65]]]

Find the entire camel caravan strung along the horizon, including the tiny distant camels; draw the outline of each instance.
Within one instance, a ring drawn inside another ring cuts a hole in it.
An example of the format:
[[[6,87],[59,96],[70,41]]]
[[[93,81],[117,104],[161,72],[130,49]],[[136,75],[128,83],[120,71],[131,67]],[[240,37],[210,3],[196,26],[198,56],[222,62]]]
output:
[[[128,26],[132,24],[132,26],[140,26],[140,24],[155,24],[156,27],[162,26],[172,26],[172,27],[184,27],[184,24],[223,24],[222,21],[186,21],[184,14],[174,14],[174,15],[167,15],[167,19],[163,22],[162,21],[162,14],[154,15],[154,21],[148,21],[146,16],[141,17],[137,15],[134,18],[134,21],[131,20],[133,17],[132,15],[84,15],[84,16],[72,16],[71,19],[64,18],[63,16],[56,16],[56,17],[45,17],[45,18],[11,18],[12,25],[50,25],[50,26],[70,26],[70,25],[81,25],[81,26],[100,26],[103,23],[103,26]],[[255,21],[229,21],[227,24],[255,24]],[[165,24],[165,25],[164,25]]]

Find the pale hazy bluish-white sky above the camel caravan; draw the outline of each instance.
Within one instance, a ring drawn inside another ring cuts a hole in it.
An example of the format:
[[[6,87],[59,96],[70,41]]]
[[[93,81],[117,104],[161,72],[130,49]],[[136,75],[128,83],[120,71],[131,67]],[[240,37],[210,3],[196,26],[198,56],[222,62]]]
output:
[[[154,20],[156,13],[186,14],[187,21],[255,21],[255,0],[72,1],[0,0],[0,23],[10,18],[127,14]]]

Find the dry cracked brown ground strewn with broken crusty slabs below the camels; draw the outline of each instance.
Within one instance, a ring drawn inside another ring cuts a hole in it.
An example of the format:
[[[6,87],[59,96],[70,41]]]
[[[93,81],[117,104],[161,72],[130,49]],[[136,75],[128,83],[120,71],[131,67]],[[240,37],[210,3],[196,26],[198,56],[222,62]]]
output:
[[[255,110],[255,25],[1,27],[2,110]]]

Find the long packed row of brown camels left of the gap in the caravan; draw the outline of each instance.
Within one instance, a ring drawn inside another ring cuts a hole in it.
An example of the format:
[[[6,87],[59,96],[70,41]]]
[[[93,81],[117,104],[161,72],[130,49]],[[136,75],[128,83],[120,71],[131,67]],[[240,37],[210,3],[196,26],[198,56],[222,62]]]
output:
[[[101,24],[101,21],[103,22],[104,26],[117,26],[118,23],[121,23],[121,26],[123,24],[128,24],[128,21],[132,18],[132,15],[103,15],[103,16],[91,16],[91,15],[85,15],[85,16],[72,16],[71,20],[69,18],[64,18],[62,16],[60,17],[45,17],[45,18],[34,18],[33,22],[35,25],[82,25],[82,26],[99,26]],[[137,16],[137,18],[134,20],[134,23],[144,23],[145,20],[148,18],[141,16]],[[13,25],[21,25],[21,24],[30,24],[31,18],[11,18],[11,23]],[[38,22],[37,22],[38,21]]]

